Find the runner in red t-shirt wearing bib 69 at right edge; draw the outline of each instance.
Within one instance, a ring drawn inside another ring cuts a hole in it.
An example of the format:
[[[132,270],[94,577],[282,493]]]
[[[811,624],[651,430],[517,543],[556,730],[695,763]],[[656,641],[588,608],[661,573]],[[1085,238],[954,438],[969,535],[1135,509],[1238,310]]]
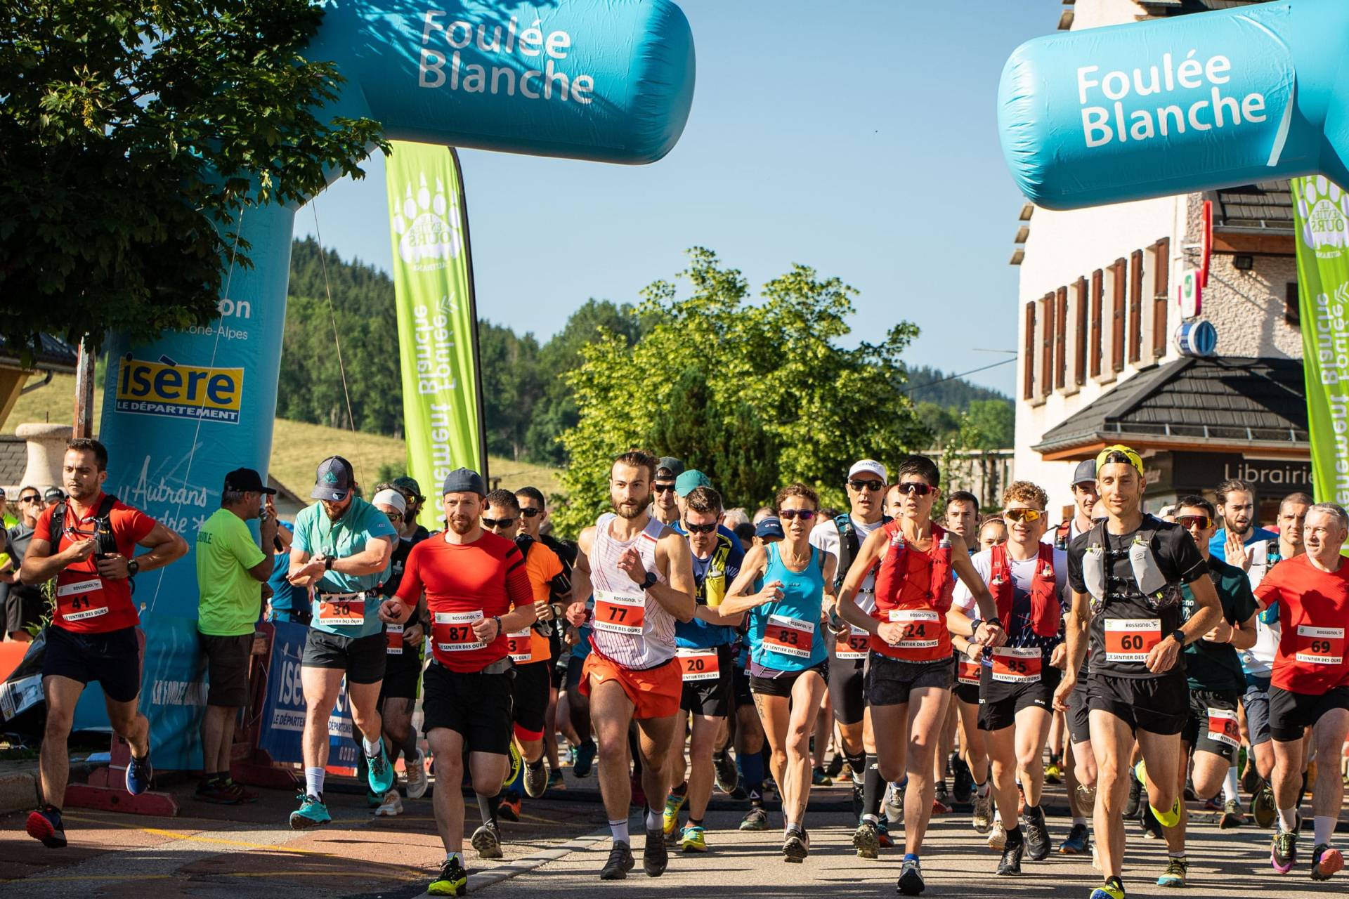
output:
[[[1334,503],[1307,509],[1302,542],[1307,551],[1269,569],[1256,588],[1261,609],[1279,607],[1279,652],[1269,686],[1269,732],[1273,737],[1273,798],[1279,810],[1269,863],[1288,873],[1298,859],[1298,795],[1306,770],[1303,732],[1311,728],[1317,783],[1311,791],[1315,848],[1311,879],[1326,880],[1344,867],[1330,846],[1340,818],[1344,782],[1338,759],[1349,736],[1349,664],[1345,621],[1349,619],[1349,565],[1340,547],[1349,536],[1349,516]]]

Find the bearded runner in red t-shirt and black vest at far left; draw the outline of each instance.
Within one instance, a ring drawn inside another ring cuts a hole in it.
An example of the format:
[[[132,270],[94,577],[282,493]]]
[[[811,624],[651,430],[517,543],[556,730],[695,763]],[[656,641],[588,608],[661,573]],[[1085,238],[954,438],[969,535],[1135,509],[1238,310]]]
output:
[[[28,815],[28,834],[45,846],[66,845],[61,803],[70,776],[66,740],[76,704],[89,681],[103,686],[108,722],[131,745],[127,790],[150,788],[150,722],[140,714],[140,616],[131,602],[131,578],[163,567],[188,553],[188,542],[152,518],[103,492],[108,450],[94,439],[66,443],[62,481],[69,499],[38,516],[19,569],[28,585],[55,578],[57,612],[46,631],[42,690],[47,729],[39,778],[46,805]],[[59,530],[53,539],[53,516]],[[53,553],[55,543],[55,553]],[[136,555],[136,546],[148,553]]]

